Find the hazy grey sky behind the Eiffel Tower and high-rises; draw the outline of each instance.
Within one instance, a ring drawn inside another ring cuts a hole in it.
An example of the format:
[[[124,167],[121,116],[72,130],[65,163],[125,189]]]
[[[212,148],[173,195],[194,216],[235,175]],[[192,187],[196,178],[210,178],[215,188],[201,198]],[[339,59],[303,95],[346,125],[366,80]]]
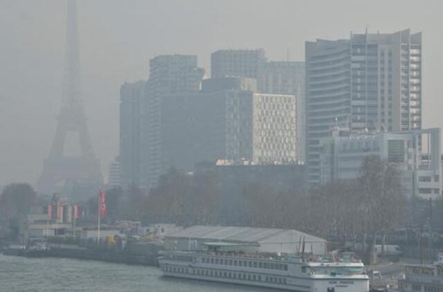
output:
[[[442,127],[441,1],[78,0],[82,91],[96,155],[118,154],[118,95],[146,79],[159,54],[196,54],[210,71],[219,48],[265,48],[304,59],[304,42],[350,31],[422,31],[424,127]],[[66,1],[0,0],[0,185],[35,183],[60,110]]]

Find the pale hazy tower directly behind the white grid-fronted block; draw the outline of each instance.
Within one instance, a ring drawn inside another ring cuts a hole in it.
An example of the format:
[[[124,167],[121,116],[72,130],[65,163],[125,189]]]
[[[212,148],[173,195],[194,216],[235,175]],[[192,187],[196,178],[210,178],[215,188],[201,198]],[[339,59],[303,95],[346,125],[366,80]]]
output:
[[[305,62],[266,62],[258,71],[260,93],[296,95],[297,159],[305,161]]]

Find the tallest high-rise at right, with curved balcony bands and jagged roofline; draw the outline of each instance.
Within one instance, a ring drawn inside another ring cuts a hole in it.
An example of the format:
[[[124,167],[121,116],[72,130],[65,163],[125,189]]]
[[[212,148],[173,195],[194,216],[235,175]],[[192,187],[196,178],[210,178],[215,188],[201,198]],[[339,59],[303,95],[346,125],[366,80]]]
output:
[[[320,140],[333,127],[352,134],[422,127],[422,34],[351,35],[306,42],[307,164],[320,183]]]

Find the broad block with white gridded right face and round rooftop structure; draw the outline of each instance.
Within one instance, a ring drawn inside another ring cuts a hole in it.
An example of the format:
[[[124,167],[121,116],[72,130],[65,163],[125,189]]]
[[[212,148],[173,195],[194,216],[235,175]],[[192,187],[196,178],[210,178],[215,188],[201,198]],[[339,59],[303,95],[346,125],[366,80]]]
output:
[[[163,98],[164,166],[191,171],[195,163],[219,158],[234,163],[296,163],[295,96],[244,90],[250,84],[247,78],[217,80],[227,90],[204,80],[205,93]]]

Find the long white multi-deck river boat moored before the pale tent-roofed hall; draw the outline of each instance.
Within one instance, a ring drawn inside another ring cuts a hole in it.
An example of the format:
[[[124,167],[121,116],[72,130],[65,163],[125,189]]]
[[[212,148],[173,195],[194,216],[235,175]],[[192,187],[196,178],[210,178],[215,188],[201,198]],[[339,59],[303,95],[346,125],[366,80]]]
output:
[[[368,292],[359,260],[314,255],[248,253],[244,244],[210,242],[206,250],[164,250],[163,275],[300,292]],[[228,250],[226,250],[228,248]]]

